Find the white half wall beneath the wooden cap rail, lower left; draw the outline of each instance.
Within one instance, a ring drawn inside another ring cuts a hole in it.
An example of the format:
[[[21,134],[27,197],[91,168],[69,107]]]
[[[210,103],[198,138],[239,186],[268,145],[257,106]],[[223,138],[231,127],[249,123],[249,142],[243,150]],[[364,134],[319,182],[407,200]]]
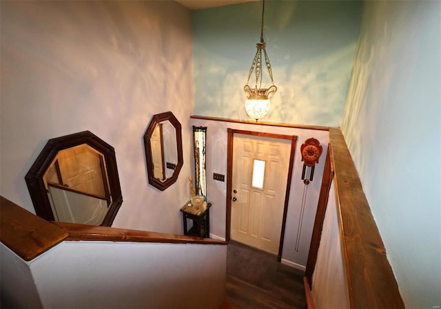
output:
[[[1,244],[2,257],[8,250]],[[226,260],[224,245],[63,242],[21,260],[32,277],[10,276],[5,286],[29,294],[23,308],[35,308],[38,296],[43,308],[219,308]],[[14,266],[2,264],[2,273]]]

